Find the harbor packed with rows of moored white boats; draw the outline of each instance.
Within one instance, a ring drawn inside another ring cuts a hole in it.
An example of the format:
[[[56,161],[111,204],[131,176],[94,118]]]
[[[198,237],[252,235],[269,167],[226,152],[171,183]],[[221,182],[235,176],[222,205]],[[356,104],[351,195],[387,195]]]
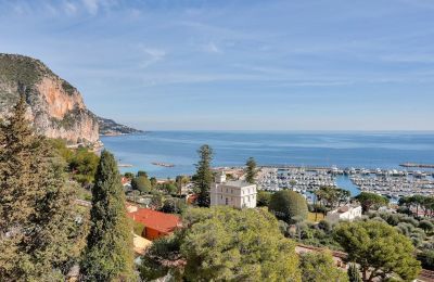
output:
[[[350,191],[353,196],[366,191],[395,202],[408,195],[434,195],[434,170],[265,166],[258,184],[266,191],[289,189],[306,195],[320,187],[334,187]]]

